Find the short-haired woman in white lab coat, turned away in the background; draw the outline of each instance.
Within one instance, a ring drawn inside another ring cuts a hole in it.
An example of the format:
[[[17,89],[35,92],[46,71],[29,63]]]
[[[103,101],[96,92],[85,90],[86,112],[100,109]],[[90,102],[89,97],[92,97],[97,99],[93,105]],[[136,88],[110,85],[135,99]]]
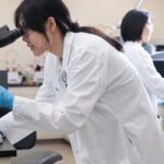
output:
[[[164,79],[156,71],[150,54],[141,46],[149,42],[153,32],[151,14],[145,10],[129,11],[121,21],[120,32],[126,57],[138,70],[157,115],[156,97],[164,99]]]

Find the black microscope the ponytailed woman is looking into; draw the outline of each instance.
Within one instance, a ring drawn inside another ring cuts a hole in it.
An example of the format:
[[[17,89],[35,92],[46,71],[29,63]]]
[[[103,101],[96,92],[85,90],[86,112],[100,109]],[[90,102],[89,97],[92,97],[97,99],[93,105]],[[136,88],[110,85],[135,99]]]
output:
[[[15,39],[23,35],[22,28],[10,31],[7,25],[0,27],[0,48],[12,44]],[[0,132],[0,144],[3,143],[3,134]]]

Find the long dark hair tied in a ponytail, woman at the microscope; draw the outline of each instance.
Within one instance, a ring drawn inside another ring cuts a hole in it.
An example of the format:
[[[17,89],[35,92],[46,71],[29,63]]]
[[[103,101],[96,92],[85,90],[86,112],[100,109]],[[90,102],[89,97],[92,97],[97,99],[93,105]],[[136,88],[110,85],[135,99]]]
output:
[[[15,11],[15,26],[30,28],[46,36],[45,23],[52,16],[65,36],[67,32],[84,32],[103,37],[117,50],[124,51],[122,46],[102,31],[91,26],[79,26],[71,20],[70,12],[61,0],[23,0]]]

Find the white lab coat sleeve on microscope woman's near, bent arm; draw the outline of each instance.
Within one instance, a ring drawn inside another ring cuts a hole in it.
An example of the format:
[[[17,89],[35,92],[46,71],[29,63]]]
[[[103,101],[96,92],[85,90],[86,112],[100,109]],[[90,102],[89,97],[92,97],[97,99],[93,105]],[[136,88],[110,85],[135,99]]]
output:
[[[55,105],[16,96],[13,105],[14,124],[33,130],[71,133],[90,117],[102,94],[99,57],[80,54],[68,70],[68,87]]]

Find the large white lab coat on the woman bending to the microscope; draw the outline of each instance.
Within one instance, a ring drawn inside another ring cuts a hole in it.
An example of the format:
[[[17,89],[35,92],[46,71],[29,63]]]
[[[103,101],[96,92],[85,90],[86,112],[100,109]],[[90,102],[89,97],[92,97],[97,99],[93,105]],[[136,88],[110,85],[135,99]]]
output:
[[[97,36],[68,33],[62,67],[49,54],[36,101],[15,96],[10,120],[9,115],[0,119],[0,129],[11,140],[9,121],[68,133],[77,164],[163,164],[164,136],[150,108],[121,52]]]

